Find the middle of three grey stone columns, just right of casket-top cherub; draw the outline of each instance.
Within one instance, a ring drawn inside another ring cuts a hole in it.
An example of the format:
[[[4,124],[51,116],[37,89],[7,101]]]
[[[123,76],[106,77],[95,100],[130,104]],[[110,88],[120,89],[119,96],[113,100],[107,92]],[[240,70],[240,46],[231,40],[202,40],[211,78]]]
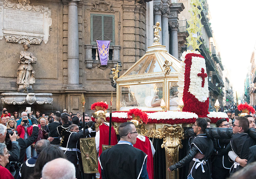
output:
[[[162,11],[162,45],[166,46],[166,50],[169,53],[169,28],[168,28],[168,16],[170,9],[164,8]]]

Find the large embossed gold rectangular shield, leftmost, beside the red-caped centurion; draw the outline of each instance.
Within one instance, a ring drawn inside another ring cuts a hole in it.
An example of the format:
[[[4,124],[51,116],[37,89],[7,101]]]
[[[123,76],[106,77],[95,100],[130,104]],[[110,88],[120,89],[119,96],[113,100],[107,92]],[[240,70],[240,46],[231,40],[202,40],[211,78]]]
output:
[[[98,154],[96,150],[95,137],[80,139],[80,150],[84,173],[97,173]]]

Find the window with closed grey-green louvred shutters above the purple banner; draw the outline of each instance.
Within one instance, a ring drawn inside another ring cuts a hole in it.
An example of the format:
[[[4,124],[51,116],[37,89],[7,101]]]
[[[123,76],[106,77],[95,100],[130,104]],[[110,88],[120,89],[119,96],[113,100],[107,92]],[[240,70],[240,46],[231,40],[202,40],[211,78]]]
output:
[[[114,16],[103,14],[91,14],[91,44],[97,40],[111,40],[110,45],[115,44]]]

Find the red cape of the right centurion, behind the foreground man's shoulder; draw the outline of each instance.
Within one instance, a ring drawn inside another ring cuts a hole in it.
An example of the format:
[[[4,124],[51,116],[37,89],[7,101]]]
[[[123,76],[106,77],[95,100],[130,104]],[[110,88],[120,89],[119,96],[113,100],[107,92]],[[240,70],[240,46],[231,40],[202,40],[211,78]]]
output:
[[[147,154],[147,173],[149,179],[154,179],[154,164],[153,164],[153,154],[151,149],[151,144],[147,136],[145,142],[138,139],[133,147],[142,150],[144,153]]]

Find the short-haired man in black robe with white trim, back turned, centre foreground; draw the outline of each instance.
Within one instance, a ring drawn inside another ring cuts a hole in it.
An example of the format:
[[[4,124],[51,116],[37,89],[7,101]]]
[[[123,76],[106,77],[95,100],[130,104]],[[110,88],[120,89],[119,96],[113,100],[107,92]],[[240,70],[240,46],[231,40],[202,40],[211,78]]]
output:
[[[132,146],[136,143],[137,135],[132,122],[119,126],[120,141],[99,157],[102,179],[148,179],[147,155]]]

